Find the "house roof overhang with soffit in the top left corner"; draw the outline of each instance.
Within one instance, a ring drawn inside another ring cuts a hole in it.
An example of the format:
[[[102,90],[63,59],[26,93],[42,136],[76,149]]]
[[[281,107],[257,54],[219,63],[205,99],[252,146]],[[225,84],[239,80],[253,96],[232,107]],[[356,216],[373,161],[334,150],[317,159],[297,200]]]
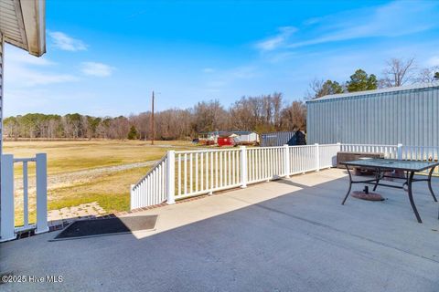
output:
[[[0,33],[31,55],[46,53],[46,0],[0,0]]]

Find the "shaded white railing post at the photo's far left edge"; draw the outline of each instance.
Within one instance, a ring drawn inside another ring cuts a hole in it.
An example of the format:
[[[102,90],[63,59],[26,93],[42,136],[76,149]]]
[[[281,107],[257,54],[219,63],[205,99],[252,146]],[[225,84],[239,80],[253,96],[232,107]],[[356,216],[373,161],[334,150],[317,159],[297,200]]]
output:
[[[14,156],[5,154],[1,157],[1,189],[0,189],[0,242],[16,238],[14,214]]]

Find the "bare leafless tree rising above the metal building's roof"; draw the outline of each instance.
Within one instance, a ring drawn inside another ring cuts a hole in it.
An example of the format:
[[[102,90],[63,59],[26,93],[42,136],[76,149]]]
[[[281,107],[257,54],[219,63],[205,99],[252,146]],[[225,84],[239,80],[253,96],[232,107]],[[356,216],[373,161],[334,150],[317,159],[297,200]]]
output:
[[[416,65],[414,57],[402,59],[393,57],[386,62],[387,66],[382,71],[383,78],[380,87],[393,88],[402,86],[407,82],[413,82]]]

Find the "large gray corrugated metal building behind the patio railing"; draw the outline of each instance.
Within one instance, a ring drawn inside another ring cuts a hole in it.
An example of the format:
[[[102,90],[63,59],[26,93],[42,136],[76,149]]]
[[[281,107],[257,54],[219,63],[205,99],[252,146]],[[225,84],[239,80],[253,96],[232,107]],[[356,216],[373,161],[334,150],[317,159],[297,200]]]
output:
[[[308,144],[439,146],[439,82],[328,95],[306,109]]]

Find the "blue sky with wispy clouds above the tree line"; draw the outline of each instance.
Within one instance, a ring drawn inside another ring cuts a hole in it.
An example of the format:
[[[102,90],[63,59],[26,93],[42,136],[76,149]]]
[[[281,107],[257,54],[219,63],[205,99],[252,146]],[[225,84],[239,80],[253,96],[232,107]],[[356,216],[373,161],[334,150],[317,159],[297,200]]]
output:
[[[439,65],[435,1],[47,1],[48,52],[5,49],[5,116],[187,108],[380,75],[386,59]]]

